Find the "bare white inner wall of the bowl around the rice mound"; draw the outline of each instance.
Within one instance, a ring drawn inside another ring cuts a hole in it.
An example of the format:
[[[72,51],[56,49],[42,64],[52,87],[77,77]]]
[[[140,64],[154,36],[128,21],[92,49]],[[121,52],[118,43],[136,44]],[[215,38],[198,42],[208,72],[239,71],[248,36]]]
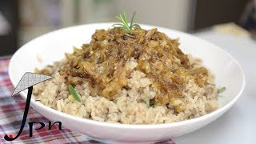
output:
[[[112,23],[98,23],[84,26],[56,30],[49,34],[35,38],[22,46],[10,61],[9,74],[14,86],[18,84],[25,72],[34,72],[34,68],[42,68],[54,61],[64,58],[64,54],[70,53],[73,46],[80,47],[85,42],[90,42],[91,35],[96,29],[107,29]],[[155,26],[141,25],[144,29]],[[226,86],[226,91],[219,98],[220,107],[231,102],[241,93],[244,86],[244,74],[241,66],[224,50],[214,46],[210,42],[195,38],[176,30],[159,28],[170,38],[180,39],[180,48],[186,54],[201,58],[203,65],[209,68],[215,76],[217,86]]]

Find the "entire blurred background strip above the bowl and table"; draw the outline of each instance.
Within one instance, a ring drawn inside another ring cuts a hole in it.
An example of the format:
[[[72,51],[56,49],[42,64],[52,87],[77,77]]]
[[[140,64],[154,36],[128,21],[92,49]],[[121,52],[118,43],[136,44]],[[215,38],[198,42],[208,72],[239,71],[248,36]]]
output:
[[[115,22],[137,12],[135,22],[195,33],[214,29],[254,38],[255,0],[1,0],[0,56],[31,39],[66,26]]]

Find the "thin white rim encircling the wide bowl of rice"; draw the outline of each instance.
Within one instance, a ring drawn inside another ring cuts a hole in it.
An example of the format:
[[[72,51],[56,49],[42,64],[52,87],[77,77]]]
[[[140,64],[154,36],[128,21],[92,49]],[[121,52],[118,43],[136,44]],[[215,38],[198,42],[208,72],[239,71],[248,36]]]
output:
[[[27,42],[25,45],[21,46],[14,53],[12,58],[10,59],[10,63],[9,63],[9,67],[8,67],[10,82],[12,83],[13,86],[17,86],[18,82],[14,83],[13,71],[11,70],[11,68],[13,66],[13,63],[14,63],[14,58],[17,57],[17,55],[19,54],[19,52],[21,50],[26,49],[26,46],[29,45],[31,42],[34,42],[39,38],[47,37],[48,34],[58,33],[59,31],[62,31],[62,30],[73,29],[73,28],[78,28],[78,27],[83,27],[83,26],[94,26],[94,25],[98,25],[98,26],[109,25],[109,26],[111,26],[113,24],[114,24],[114,22],[99,22],[99,23],[90,23],[90,24],[78,25],[78,26],[70,26],[70,27],[59,29],[59,30],[51,31],[51,32],[46,33],[46,34],[42,34],[41,36],[32,39],[30,42]],[[30,103],[32,103],[32,105],[42,107],[42,109],[46,110],[49,113],[60,115],[60,116],[62,116],[62,118],[69,118],[72,121],[85,122],[85,123],[88,123],[88,124],[91,124],[91,125],[106,126],[106,127],[119,128],[119,129],[125,128],[125,129],[134,129],[134,130],[143,130],[143,129],[161,129],[161,128],[176,127],[176,126],[182,126],[182,125],[189,125],[189,124],[194,123],[194,122],[204,121],[205,119],[210,118],[210,117],[214,116],[215,114],[221,113],[224,110],[229,110],[229,108],[234,105],[234,102],[236,102],[238,100],[238,98],[240,98],[242,96],[242,92],[243,92],[243,90],[245,89],[245,86],[246,86],[246,76],[245,76],[244,70],[242,69],[242,66],[239,64],[239,62],[230,53],[223,50],[220,46],[217,46],[212,42],[208,42],[208,41],[206,41],[202,38],[198,38],[198,37],[196,37],[192,34],[187,34],[187,33],[182,32],[182,31],[172,30],[170,28],[166,28],[166,27],[162,27],[162,26],[152,26],[152,25],[146,25],[146,24],[140,24],[140,25],[141,26],[146,26],[146,27],[151,27],[151,28],[152,27],[157,27],[157,28],[163,30],[163,32],[165,30],[170,30],[170,31],[174,31],[175,33],[183,34],[183,35],[188,36],[190,38],[197,39],[198,41],[205,42],[206,44],[211,45],[214,49],[217,49],[217,50],[221,51],[222,53],[226,54],[228,57],[230,57],[230,59],[232,59],[232,61],[235,63],[235,65],[238,66],[238,69],[241,70],[241,72],[242,72],[242,87],[239,90],[238,94],[236,94],[235,97],[230,102],[228,102],[225,106],[222,106],[222,107],[218,108],[217,110],[214,110],[210,114],[206,114],[206,115],[200,116],[198,118],[192,118],[192,119],[181,121],[181,122],[171,122],[171,123],[161,123],[161,124],[138,124],[138,125],[137,124],[111,123],[111,122],[98,122],[98,121],[95,121],[95,120],[92,120],[92,119],[80,118],[78,116],[74,116],[74,115],[71,115],[71,114],[63,113],[63,112],[58,111],[58,110],[54,110],[53,108],[45,106],[40,102],[31,101]],[[22,98],[26,99],[26,93],[24,91],[22,91],[20,94],[21,94]],[[38,112],[38,113],[40,113],[40,112]],[[43,115],[43,116],[45,116],[45,115]]]

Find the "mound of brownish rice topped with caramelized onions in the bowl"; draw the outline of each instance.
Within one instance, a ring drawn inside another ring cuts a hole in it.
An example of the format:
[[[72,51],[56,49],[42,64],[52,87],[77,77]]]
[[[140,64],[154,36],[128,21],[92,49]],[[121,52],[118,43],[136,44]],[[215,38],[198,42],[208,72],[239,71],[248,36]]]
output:
[[[178,46],[178,39],[157,29],[96,30],[90,43],[62,62],[36,70],[54,78],[35,86],[34,96],[55,110],[100,122],[179,122],[216,110],[213,75]]]

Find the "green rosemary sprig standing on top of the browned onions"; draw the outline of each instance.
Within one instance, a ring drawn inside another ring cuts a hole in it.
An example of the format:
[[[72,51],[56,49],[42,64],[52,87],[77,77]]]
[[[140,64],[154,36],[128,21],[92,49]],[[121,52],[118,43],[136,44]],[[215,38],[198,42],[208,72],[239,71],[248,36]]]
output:
[[[128,34],[133,34],[133,27],[141,28],[141,26],[139,26],[137,23],[134,23],[135,14],[136,13],[134,12],[132,18],[130,19],[130,26],[127,22],[126,12],[123,12],[123,14],[119,14],[118,16],[116,16],[116,18],[118,18],[122,23],[114,24],[114,28],[125,30]]]

